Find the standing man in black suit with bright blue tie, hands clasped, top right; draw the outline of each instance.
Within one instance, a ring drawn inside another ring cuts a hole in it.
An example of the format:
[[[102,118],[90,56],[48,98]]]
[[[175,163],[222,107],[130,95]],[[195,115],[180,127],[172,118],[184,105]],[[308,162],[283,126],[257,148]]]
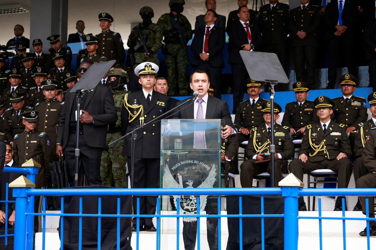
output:
[[[334,89],[337,80],[337,66],[341,54],[344,57],[350,75],[357,77],[352,56],[355,40],[358,7],[350,0],[333,0],[325,8],[326,40],[328,42],[328,84]]]

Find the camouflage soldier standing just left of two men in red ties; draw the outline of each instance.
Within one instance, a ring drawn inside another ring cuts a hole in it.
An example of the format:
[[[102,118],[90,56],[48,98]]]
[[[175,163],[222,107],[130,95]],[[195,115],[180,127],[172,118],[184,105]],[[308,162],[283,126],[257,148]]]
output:
[[[161,27],[164,35],[164,43],[166,44],[166,67],[167,67],[167,81],[170,85],[168,95],[176,94],[177,86],[179,86],[179,96],[187,94],[187,68],[190,64],[188,58],[187,43],[192,38],[192,27],[188,19],[183,16],[184,0],[170,0],[170,13],[163,14],[157,25]],[[173,20],[177,21],[173,26]],[[183,35],[179,34],[177,27],[180,26]],[[178,71],[178,80],[176,82],[176,72]]]

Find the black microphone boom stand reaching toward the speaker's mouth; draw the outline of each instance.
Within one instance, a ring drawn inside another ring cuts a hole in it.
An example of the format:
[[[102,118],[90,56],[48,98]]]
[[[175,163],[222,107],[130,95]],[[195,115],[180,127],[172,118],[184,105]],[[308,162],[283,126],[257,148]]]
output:
[[[166,113],[164,114],[161,114],[160,116],[158,117],[155,117],[153,120],[147,122],[147,123],[144,123],[143,125],[141,126],[136,126],[132,131],[128,132],[125,136],[122,136],[120,137],[119,139],[111,142],[108,144],[108,146],[111,146],[112,144],[114,143],[117,143],[118,141],[124,139],[125,137],[129,136],[129,135],[132,135],[132,148],[131,148],[131,154],[132,154],[132,160],[131,160],[131,170],[130,170],[130,188],[133,188],[133,175],[135,173],[135,150],[136,150],[136,139],[137,139],[137,133],[136,131],[140,130],[141,128],[145,127],[146,125],[149,125],[150,123],[153,123],[155,122],[156,120],[160,119],[161,117],[165,116],[166,114],[168,113],[171,113],[172,111],[176,110],[177,108],[179,108],[180,106],[188,103],[188,102],[191,102],[189,105],[187,105],[186,107],[189,107],[191,104],[193,104],[194,100],[196,100],[197,96],[193,96],[192,98],[189,98],[187,99],[185,102],[183,102],[182,104],[180,105],[177,105],[176,107],[172,108],[171,110],[168,110]],[[77,104],[78,105],[78,104]],[[185,108],[186,108],[185,107]],[[78,108],[78,107],[77,107]],[[77,134],[77,142],[78,142],[78,134]],[[77,146],[78,148],[78,146]],[[76,171],[77,172],[77,171]],[[133,197],[130,199],[130,206],[132,208],[132,212],[134,214],[134,211],[133,211]],[[132,217],[129,217],[130,220],[131,220],[131,224],[132,224]],[[132,227],[130,228],[130,232],[129,232],[129,235],[128,235],[128,239],[129,239],[129,244],[131,242],[131,239],[132,239]]]

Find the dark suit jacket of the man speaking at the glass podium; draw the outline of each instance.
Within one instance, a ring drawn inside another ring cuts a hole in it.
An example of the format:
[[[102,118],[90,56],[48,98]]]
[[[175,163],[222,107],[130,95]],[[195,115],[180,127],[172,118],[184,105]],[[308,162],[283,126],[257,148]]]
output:
[[[176,105],[182,104],[183,101],[177,102]],[[194,119],[194,104],[185,104],[178,108],[179,112],[174,114],[173,119]],[[206,104],[206,117],[205,119],[224,119],[226,125],[232,127],[233,130],[237,131],[232,123],[229,106],[226,101],[212,97],[208,95],[208,104]]]

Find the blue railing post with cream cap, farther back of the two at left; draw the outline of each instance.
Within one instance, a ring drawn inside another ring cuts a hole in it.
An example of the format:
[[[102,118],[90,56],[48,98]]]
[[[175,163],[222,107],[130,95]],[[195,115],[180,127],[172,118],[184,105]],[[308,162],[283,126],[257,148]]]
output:
[[[30,173],[26,175],[26,178],[29,179],[32,183],[35,183],[35,176],[38,174],[38,168],[41,165],[33,159],[26,161],[26,163],[22,164],[22,167],[29,170]],[[29,196],[27,199],[27,213],[34,212],[34,200],[35,196]],[[38,211],[36,211],[38,212]],[[26,240],[27,242],[31,242],[28,245],[26,250],[33,250],[34,245],[34,216],[27,215],[27,223],[26,223]]]

